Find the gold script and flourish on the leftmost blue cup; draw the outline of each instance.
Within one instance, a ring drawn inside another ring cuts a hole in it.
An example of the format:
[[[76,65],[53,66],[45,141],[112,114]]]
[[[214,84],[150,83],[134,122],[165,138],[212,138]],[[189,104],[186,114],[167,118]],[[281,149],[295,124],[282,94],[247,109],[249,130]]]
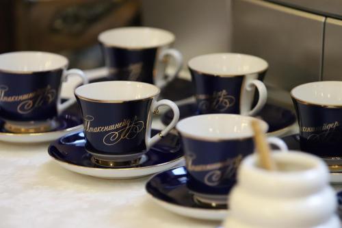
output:
[[[55,100],[56,90],[51,88],[50,85],[45,88],[40,88],[33,92],[25,94],[18,94],[14,96],[6,96],[6,92],[9,92],[10,88],[5,85],[0,86],[0,101],[2,102],[20,102],[16,108],[20,114],[28,114],[42,105],[50,104]]]

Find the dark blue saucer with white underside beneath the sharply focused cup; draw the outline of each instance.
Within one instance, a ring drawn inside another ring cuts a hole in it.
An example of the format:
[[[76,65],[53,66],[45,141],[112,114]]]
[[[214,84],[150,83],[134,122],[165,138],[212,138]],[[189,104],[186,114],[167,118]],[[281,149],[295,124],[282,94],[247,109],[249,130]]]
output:
[[[156,132],[159,131],[153,130],[152,134]],[[168,134],[157,142],[145,153],[140,164],[124,168],[111,168],[96,164],[92,155],[86,151],[85,142],[83,131],[68,134],[50,145],[49,155],[57,164],[70,171],[103,179],[144,177],[172,168],[184,160],[179,136],[174,134]]]

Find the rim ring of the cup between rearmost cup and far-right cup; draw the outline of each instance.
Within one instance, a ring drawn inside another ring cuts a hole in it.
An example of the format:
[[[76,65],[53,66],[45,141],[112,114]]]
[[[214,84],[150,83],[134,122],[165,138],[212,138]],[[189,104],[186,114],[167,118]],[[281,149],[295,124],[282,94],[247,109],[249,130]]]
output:
[[[246,73],[235,73],[235,74],[220,74],[220,73],[212,73],[209,71],[201,71],[196,69],[196,67],[191,66],[193,64],[194,61],[197,61],[201,58],[209,58],[209,57],[213,57],[213,56],[223,56],[223,55],[230,55],[233,58],[237,58],[238,56],[244,56],[246,58],[250,58],[250,59],[254,59],[257,61],[261,61],[263,64],[265,64],[263,67],[261,67],[258,71],[247,71]],[[268,62],[266,60],[264,60],[263,58],[260,58],[258,56],[255,55],[248,55],[248,54],[243,54],[243,53],[208,53],[205,55],[197,55],[194,58],[190,59],[187,62],[187,67],[191,70],[194,71],[200,75],[209,75],[209,76],[213,76],[213,77],[241,77],[241,76],[245,76],[245,75],[251,75],[251,74],[256,74],[256,73],[261,73],[267,70],[267,68],[269,67]]]

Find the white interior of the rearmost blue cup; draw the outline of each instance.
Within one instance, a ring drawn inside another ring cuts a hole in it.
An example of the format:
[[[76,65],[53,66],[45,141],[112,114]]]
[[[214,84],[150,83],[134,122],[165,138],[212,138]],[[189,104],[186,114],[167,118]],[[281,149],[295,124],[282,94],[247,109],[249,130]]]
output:
[[[168,45],[174,41],[174,34],[152,27],[121,27],[103,31],[98,40],[106,46],[144,49]]]

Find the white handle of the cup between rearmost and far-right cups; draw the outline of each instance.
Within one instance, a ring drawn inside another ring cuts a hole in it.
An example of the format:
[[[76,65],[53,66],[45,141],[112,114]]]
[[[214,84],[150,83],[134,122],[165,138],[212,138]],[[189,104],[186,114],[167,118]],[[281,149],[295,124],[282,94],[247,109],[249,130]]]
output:
[[[259,92],[259,101],[252,110],[247,112],[248,116],[254,116],[255,114],[257,114],[263,108],[267,101],[267,89],[265,84],[263,84],[263,82],[258,79],[254,79],[252,81],[248,81],[248,83],[246,84],[246,90],[251,91],[253,90],[254,86],[257,87],[257,90]]]

